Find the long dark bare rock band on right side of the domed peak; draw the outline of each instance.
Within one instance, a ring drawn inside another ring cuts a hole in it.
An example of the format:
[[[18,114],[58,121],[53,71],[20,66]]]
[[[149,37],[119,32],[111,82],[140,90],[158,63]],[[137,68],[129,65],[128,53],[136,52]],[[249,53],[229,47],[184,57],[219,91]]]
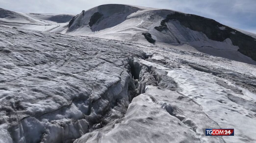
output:
[[[161,21],[161,26],[155,27],[155,29],[160,32],[167,29],[165,22],[171,19],[178,20],[180,24],[191,30],[204,33],[211,40],[224,41],[229,38],[234,46],[239,47],[239,52],[256,60],[256,39],[251,36],[236,31],[213,19],[179,12],[167,15],[166,19]]]

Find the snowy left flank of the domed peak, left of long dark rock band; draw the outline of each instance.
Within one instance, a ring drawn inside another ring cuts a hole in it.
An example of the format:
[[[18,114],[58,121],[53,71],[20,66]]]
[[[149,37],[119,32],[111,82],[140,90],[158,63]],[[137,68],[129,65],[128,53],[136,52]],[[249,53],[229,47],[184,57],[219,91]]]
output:
[[[95,23],[90,26],[90,19],[96,12],[102,16],[97,18],[94,15]],[[118,4],[101,5],[81,12],[69,25],[50,32],[147,43],[141,34],[158,26],[170,12],[173,11]]]

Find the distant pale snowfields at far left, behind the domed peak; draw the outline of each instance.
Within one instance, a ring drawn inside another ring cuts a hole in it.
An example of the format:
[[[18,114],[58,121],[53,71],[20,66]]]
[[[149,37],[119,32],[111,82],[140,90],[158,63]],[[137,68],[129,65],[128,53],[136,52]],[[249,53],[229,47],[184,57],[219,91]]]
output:
[[[0,8],[0,24],[47,31],[60,25],[66,25],[74,15],[70,14],[40,14],[14,12]]]

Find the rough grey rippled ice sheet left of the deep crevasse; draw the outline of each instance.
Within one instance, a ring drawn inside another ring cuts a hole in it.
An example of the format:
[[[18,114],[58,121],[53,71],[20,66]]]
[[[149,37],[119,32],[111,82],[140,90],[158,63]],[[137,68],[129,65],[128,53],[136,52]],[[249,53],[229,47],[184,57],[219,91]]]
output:
[[[144,58],[142,51],[97,38],[0,28],[0,142],[68,142],[113,104],[128,106],[128,58]]]

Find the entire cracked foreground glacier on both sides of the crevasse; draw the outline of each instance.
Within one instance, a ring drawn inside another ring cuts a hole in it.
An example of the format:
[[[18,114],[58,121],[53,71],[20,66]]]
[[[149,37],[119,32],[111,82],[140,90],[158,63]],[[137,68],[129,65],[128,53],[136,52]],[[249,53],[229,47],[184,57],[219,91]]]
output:
[[[256,141],[254,65],[174,45],[0,33],[1,143]],[[235,136],[205,136],[215,125]]]

